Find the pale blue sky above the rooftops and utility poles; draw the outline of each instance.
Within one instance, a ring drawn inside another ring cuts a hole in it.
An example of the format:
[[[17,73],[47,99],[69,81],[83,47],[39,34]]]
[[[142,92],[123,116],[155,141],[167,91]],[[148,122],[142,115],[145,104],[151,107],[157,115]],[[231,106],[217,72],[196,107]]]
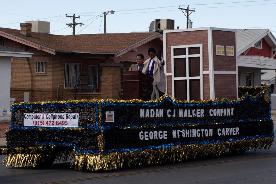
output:
[[[186,28],[186,17],[178,7],[195,10],[190,14],[193,27],[219,27],[240,29],[270,29],[276,35],[276,0],[171,0],[171,1],[86,1],[86,0],[13,0],[1,1],[0,27],[20,29],[20,23],[32,20],[50,22],[50,33],[70,35],[67,15],[76,14],[76,34],[104,32],[102,12],[114,10],[106,16],[107,33],[148,31],[155,19],[173,19],[175,29]]]

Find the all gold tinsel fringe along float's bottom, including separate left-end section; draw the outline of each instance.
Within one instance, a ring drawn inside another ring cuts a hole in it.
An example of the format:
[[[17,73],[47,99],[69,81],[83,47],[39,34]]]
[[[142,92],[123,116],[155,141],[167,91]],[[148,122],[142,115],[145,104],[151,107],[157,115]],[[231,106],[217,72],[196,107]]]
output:
[[[190,144],[165,149],[113,152],[98,155],[59,151],[56,154],[56,161],[64,162],[71,160],[71,166],[75,165],[75,169],[77,170],[86,168],[89,171],[106,171],[122,167],[181,162],[196,157],[218,156],[230,151],[269,149],[273,141],[273,137],[244,139],[214,144]],[[22,150],[22,148],[16,149],[17,151]],[[43,159],[44,155],[35,153],[35,151],[30,154],[10,153],[1,163],[2,165],[6,165],[6,167],[29,167],[31,165],[36,167]]]

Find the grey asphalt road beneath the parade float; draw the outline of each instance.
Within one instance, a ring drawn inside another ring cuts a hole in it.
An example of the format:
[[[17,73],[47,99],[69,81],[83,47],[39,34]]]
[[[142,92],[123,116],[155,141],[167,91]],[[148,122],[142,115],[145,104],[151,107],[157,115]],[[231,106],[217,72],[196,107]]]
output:
[[[0,156],[0,160],[4,155]],[[269,150],[231,153],[181,163],[113,171],[77,171],[69,163],[47,169],[0,166],[1,183],[275,183],[276,145]]]

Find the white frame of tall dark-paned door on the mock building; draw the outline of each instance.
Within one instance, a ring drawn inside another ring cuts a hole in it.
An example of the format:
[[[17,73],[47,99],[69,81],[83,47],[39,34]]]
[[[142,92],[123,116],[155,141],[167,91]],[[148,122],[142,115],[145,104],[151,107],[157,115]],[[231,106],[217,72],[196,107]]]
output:
[[[189,55],[189,48],[199,47],[199,54]],[[186,55],[174,56],[174,48],[186,48]],[[197,77],[187,77],[189,76],[189,58],[200,57],[200,76]],[[174,59],[176,58],[186,58],[186,77],[174,77]],[[203,99],[203,52],[202,44],[194,45],[178,45],[171,46],[171,87],[172,87],[172,98],[174,97],[174,80],[187,80],[187,101],[190,102],[190,79],[200,79],[200,98]]]

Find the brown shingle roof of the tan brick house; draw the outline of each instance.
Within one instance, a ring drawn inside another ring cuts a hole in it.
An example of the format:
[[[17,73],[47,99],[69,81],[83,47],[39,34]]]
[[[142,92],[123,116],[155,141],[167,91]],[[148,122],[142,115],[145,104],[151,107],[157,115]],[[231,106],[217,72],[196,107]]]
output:
[[[0,32],[8,33],[19,39],[51,48],[56,52],[76,51],[92,53],[118,53],[132,44],[153,36],[155,32],[148,33],[111,33],[111,34],[83,34],[83,35],[53,35],[34,33],[32,37],[20,34],[20,30],[0,28]]]

